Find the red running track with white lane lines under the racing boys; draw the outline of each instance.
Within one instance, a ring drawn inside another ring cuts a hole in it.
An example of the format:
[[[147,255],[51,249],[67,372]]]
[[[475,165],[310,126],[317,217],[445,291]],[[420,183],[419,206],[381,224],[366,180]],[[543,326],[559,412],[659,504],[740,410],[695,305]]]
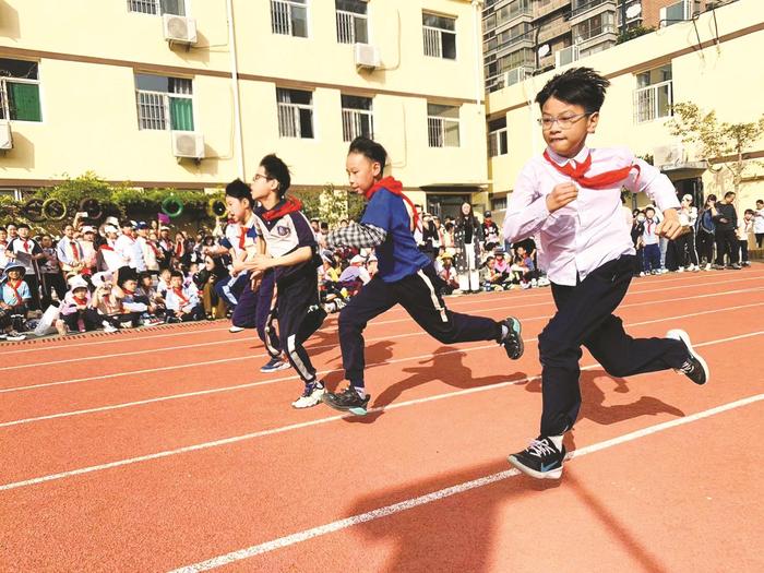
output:
[[[374,409],[289,407],[291,371],[220,323],[0,347],[0,570],[762,571],[764,267],[637,279],[637,336],[681,326],[712,368],[628,380],[584,355],[560,482],[505,461],[540,409],[549,289],[449,300],[524,321],[525,356],[367,331]],[[310,342],[342,379],[336,321]]]

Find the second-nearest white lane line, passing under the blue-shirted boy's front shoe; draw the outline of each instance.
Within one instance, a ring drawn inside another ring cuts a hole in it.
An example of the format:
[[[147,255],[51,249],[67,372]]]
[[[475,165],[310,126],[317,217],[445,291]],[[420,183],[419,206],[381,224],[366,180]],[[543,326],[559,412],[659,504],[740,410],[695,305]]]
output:
[[[701,343],[701,344],[694,344],[693,346],[696,348],[702,347],[702,346],[711,346],[711,345],[715,345],[715,344],[723,344],[726,342],[749,338],[751,336],[759,336],[762,334],[764,334],[764,331],[741,334],[741,335],[731,336],[728,338],[720,338],[718,341],[708,341],[708,342]],[[588,365],[588,366],[582,367],[581,370],[592,370],[594,368],[601,368],[601,367],[598,363],[594,363],[594,365]],[[505,382],[498,382],[496,384],[489,384],[486,386],[477,386],[477,387],[470,387],[470,389],[466,389],[466,390],[458,390],[456,392],[445,392],[443,394],[435,394],[434,396],[427,396],[423,398],[417,398],[417,399],[410,399],[410,401],[406,401],[406,402],[399,402],[396,404],[390,404],[387,406],[379,406],[375,408],[369,408],[369,414],[374,414],[378,411],[389,411],[389,410],[405,408],[408,406],[415,406],[418,404],[425,404],[428,402],[437,402],[437,401],[452,398],[452,397],[456,397],[456,396],[465,396],[468,394],[476,394],[478,392],[488,392],[488,391],[492,391],[492,390],[497,390],[497,389],[502,389],[502,387],[506,387],[506,386],[511,386],[511,385],[530,382],[533,380],[538,380],[541,377],[537,374],[537,375],[533,375],[533,377],[526,377],[522,380],[509,380]],[[64,479],[64,478],[72,477],[72,476],[91,474],[93,471],[100,471],[104,469],[110,469],[110,468],[115,468],[115,467],[139,464],[142,462],[150,462],[152,459],[159,459],[163,457],[184,454],[188,452],[208,450],[211,447],[217,447],[220,445],[228,445],[228,444],[242,442],[246,440],[252,440],[255,438],[262,438],[262,437],[266,437],[266,435],[285,433],[285,432],[293,431],[293,430],[300,430],[302,428],[309,428],[312,426],[319,426],[319,425],[336,421],[336,420],[339,420],[342,418],[353,418],[353,417],[354,417],[353,414],[348,414],[348,415],[331,416],[329,418],[319,418],[317,420],[310,420],[310,421],[300,422],[300,423],[293,423],[289,426],[282,426],[278,428],[272,428],[270,430],[260,430],[260,431],[247,433],[243,435],[235,435],[232,438],[225,438],[223,440],[215,440],[212,442],[202,442],[199,444],[187,445],[187,446],[178,447],[175,450],[165,450],[163,452],[157,452],[154,454],[146,454],[146,455],[142,455],[142,456],[130,457],[127,459],[118,459],[116,462],[109,462],[106,464],[98,464],[98,465],[94,465],[94,466],[81,467],[77,469],[70,469],[67,471],[61,471],[59,474],[50,474],[47,476],[40,476],[40,477],[32,478],[32,479],[26,479],[23,481],[14,481],[14,482],[10,482],[10,484],[3,484],[3,485],[0,485],[0,491],[7,491],[7,490],[11,490],[11,489],[27,487],[27,486],[35,486],[37,484],[44,484],[46,481],[55,481],[55,480]]]

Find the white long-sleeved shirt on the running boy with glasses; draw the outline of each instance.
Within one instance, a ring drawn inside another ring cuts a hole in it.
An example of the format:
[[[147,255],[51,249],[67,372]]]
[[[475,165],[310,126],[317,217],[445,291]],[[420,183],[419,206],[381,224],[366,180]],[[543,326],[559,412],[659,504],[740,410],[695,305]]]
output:
[[[589,150],[584,147],[568,159],[551,150],[550,158],[563,166],[569,160],[577,165],[592,154],[593,177],[606,171],[636,165],[623,181],[606,189],[578,186],[578,196],[554,213],[547,208],[547,195],[554,186],[572,181],[542,156],[530,159],[520,172],[504,218],[504,237],[510,242],[538,234],[541,261],[549,279],[559,285],[575,286],[602,264],[624,254],[634,254],[631,229],[621,210],[621,188],[644,191],[661,211],[679,207],[671,181],[652,165],[634,157],[625,147]],[[638,174],[638,175],[637,175]],[[577,184],[577,183],[576,183]]]

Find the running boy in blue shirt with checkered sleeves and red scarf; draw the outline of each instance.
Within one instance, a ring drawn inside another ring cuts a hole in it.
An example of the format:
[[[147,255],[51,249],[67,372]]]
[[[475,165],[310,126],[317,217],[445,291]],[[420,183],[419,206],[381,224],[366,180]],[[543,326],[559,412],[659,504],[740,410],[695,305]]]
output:
[[[414,229],[419,214],[404,194],[403,184],[383,177],[387,152],[367,138],[350,143],[347,174],[353,191],[367,200],[359,225],[331,232],[330,249],[355,247],[375,250],[378,272],[339,313],[339,347],[348,385],[323,398],[341,411],[365,415],[369,404],[363,380],[363,330],[367,323],[401,305],[432,337],[443,344],[494,341],[516,360],[523,355],[520,321],[501,322],[458,314],[445,308],[440,295],[441,279],[432,262],[419,251]]]

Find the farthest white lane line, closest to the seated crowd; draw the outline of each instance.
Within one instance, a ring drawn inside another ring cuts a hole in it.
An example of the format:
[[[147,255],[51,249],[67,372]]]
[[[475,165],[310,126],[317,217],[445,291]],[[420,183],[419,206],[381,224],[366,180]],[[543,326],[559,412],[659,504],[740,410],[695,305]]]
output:
[[[684,285],[682,287],[670,287],[668,288],[669,290],[676,289],[676,288],[692,288],[694,286],[699,287],[706,287],[706,286],[713,286],[713,285],[727,285],[730,283],[739,283],[739,282],[747,282],[747,280],[757,280],[764,278],[764,275],[762,276],[754,276],[754,277],[749,277],[747,276],[745,278],[735,278],[735,279],[725,279],[725,280],[713,280],[713,282],[706,282],[706,283],[697,283],[690,285]],[[667,279],[661,279],[660,283],[669,283],[669,282],[680,282],[680,280],[685,280],[684,278],[667,278]],[[690,282],[690,280],[687,280]],[[648,293],[660,293],[666,290],[666,288],[650,288],[650,289],[644,289],[644,290],[630,290],[626,293],[626,297],[629,298],[630,296],[634,295],[643,295],[643,294],[648,294]],[[469,299],[458,299],[458,298],[449,298],[449,302],[446,307],[455,307],[455,306],[463,306],[463,305],[473,305],[473,303],[478,303],[478,302],[492,302],[498,299],[510,299],[513,298],[514,300],[517,301],[518,305],[513,305],[510,307],[500,307],[502,309],[508,309],[508,308],[515,308],[517,306],[525,306],[523,301],[529,299],[529,298],[537,298],[537,297],[548,297],[549,296],[549,290],[544,290],[541,293],[536,293],[533,291],[530,294],[527,294],[527,291],[522,291],[522,293],[493,293],[493,294],[488,294],[486,297],[480,297],[480,298],[474,298],[470,297]],[[538,305],[536,305],[538,306]],[[393,310],[393,312],[395,312]],[[398,321],[391,321],[391,322],[398,322]],[[386,324],[384,321],[371,321],[369,324]],[[19,350],[7,350],[7,351],[0,351],[0,356],[4,355],[15,355],[15,354],[27,354],[27,353],[39,353],[39,351],[45,351],[45,350],[56,350],[59,348],[75,348],[80,346],[97,346],[97,345],[103,345],[103,344],[118,344],[118,343],[126,343],[126,342],[131,342],[131,341],[144,341],[144,339],[152,339],[152,338],[168,338],[168,337],[174,337],[174,336],[189,336],[193,334],[207,334],[211,332],[227,332],[228,326],[223,327],[223,329],[194,329],[192,331],[187,331],[187,332],[177,332],[177,333],[168,333],[168,334],[154,334],[150,336],[141,336],[140,333],[141,331],[135,331],[139,336],[130,336],[130,337],[120,337],[120,336],[112,336],[110,339],[107,341],[95,341],[95,342],[83,342],[83,343],[71,343],[71,344],[63,344],[63,345],[58,345],[58,346],[48,346],[48,345],[40,345],[40,346],[35,346],[34,348],[23,348]],[[234,338],[235,339],[235,338]],[[230,342],[230,338],[226,338],[226,342]],[[1,346],[0,346],[1,347]]]

